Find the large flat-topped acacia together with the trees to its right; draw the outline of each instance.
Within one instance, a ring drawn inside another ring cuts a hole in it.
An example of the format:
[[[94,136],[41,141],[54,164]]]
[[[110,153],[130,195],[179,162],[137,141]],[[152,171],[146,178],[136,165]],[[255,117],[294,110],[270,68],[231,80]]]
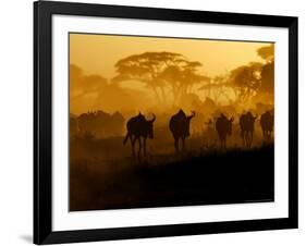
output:
[[[169,103],[169,91],[172,95],[170,103],[175,106],[184,103],[195,90],[201,90],[216,102],[222,98],[231,103],[245,104],[264,97],[270,103],[274,89],[273,45],[259,48],[257,54],[264,62],[250,62],[223,75],[209,77],[200,72],[200,62],[191,61],[181,53],[144,52],[119,60],[112,82],[139,81],[162,104]]]

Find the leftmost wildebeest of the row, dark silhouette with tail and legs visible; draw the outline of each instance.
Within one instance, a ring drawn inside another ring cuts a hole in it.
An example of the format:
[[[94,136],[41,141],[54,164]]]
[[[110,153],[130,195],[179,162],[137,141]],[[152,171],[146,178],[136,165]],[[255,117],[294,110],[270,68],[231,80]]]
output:
[[[138,159],[140,158],[140,151],[143,148],[142,138],[144,139],[144,156],[146,156],[146,140],[147,138],[154,138],[154,122],[156,120],[155,114],[152,114],[151,120],[146,120],[146,118],[139,113],[137,116],[131,118],[126,123],[126,136],[123,144],[130,138],[132,145],[132,155],[135,157],[135,143],[138,140]]]

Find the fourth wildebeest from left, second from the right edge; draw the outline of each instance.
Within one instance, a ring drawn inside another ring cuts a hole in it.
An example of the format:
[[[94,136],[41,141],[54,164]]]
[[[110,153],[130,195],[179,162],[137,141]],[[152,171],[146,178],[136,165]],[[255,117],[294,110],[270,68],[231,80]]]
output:
[[[243,145],[247,148],[250,148],[253,142],[253,133],[254,133],[254,123],[256,116],[253,116],[252,112],[247,112],[241,115],[240,118],[240,126],[241,126],[241,137],[243,140]]]

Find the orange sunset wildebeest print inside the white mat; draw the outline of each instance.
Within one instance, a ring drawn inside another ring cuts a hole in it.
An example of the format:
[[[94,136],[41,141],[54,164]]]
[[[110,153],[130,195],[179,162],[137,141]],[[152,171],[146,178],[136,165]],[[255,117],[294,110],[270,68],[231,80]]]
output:
[[[274,199],[274,42],[69,34],[70,211]]]

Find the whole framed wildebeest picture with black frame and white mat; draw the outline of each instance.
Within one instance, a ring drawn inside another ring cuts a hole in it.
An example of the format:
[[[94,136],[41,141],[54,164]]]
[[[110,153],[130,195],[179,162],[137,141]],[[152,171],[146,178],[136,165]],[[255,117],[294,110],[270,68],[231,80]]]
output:
[[[34,3],[34,243],[297,227],[297,17]]]

